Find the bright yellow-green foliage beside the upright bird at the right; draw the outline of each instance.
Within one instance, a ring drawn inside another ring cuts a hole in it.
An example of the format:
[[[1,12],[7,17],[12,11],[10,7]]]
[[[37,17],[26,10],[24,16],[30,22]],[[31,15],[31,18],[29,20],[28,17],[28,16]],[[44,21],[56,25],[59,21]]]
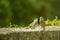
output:
[[[53,20],[47,19],[45,21],[45,24],[47,26],[60,26],[60,20],[58,19],[57,16],[55,16],[55,19],[53,19]]]

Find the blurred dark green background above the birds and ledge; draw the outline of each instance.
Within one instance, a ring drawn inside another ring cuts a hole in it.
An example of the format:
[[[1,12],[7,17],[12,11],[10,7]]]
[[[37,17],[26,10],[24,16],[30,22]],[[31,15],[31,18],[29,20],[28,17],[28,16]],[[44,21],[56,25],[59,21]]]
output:
[[[27,26],[39,16],[60,17],[60,0],[0,0],[0,26]]]

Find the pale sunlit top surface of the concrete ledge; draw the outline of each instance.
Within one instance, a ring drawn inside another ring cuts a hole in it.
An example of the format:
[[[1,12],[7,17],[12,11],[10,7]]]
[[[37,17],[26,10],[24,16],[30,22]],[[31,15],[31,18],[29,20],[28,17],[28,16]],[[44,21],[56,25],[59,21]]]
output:
[[[35,32],[35,31],[43,31],[42,27],[36,28],[0,28],[0,34],[7,34],[12,32]],[[60,31],[60,26],[46,26],[45,31]]]

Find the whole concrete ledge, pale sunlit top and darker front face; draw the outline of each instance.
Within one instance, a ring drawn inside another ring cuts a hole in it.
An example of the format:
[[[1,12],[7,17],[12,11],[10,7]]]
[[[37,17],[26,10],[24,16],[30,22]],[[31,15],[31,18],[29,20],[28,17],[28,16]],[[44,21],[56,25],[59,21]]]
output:
[[[0,28],[0,40],[60,40],[60,27]]]

